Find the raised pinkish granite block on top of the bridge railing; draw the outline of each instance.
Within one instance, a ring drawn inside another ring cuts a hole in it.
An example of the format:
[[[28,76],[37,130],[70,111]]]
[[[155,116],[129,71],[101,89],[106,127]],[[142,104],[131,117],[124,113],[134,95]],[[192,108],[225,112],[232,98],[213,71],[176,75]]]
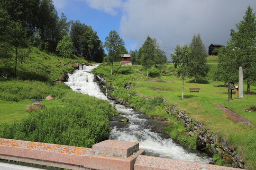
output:
[[[106,140],[92,145],[94,154],[128,158],[139,150],[139,143],[127,141]]]

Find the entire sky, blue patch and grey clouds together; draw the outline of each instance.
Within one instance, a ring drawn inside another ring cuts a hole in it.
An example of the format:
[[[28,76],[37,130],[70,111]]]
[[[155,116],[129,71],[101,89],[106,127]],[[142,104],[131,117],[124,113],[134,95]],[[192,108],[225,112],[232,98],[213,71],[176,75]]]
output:
[[[127,50],[139,49],[149,35],[166,55],[177,44],[189,44],[201,34],[206,48],[226,45],[256,0],[53,0],[58,15],[80,20],[97,32],[102,42],[111,30],[118,32]],[[208,49],[207,49],[208,51]]]

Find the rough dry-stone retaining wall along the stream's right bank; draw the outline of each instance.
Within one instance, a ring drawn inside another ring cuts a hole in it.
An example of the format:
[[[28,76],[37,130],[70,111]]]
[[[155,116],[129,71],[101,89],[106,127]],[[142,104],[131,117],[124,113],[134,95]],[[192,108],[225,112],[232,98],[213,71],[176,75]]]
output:
[[[179,111],[175,106],[165,109],[167,113],[174,115],[177,120],[183,123],[190,136],[198,134],[196,141],[198,150],[207,153],[209,156],[219,154],[219,156],[223,158],[223,161],[231,164],[232,167],[242,169],[247,168],[244,161],[241,159],[241,155],[236,151],[236,148],[229,144],[225,139],[209,133],[209,131],[203,127],[201,122],[189,118],[184,110]]]

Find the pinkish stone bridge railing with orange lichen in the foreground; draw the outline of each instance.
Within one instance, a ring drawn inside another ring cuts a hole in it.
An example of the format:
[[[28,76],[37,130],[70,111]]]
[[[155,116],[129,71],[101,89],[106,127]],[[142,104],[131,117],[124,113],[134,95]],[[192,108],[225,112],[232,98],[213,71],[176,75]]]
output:
[[[90,149],[0,138],[0,159],[71,170],[238,170],[143,154],[136,142],[106,140]]]

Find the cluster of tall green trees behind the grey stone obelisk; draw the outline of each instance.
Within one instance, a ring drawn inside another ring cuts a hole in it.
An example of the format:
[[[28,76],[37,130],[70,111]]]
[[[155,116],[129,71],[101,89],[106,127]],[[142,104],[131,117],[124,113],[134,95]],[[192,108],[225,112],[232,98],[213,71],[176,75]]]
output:
[[[256,16],[252,8],[247,8],[243,20],[237,24],[238,32],[231,30],[228,45],[219,52],[219,68],[222,81],[238,82],[239,67],[243,67],[243,79],[250,85],[256,82]]]

